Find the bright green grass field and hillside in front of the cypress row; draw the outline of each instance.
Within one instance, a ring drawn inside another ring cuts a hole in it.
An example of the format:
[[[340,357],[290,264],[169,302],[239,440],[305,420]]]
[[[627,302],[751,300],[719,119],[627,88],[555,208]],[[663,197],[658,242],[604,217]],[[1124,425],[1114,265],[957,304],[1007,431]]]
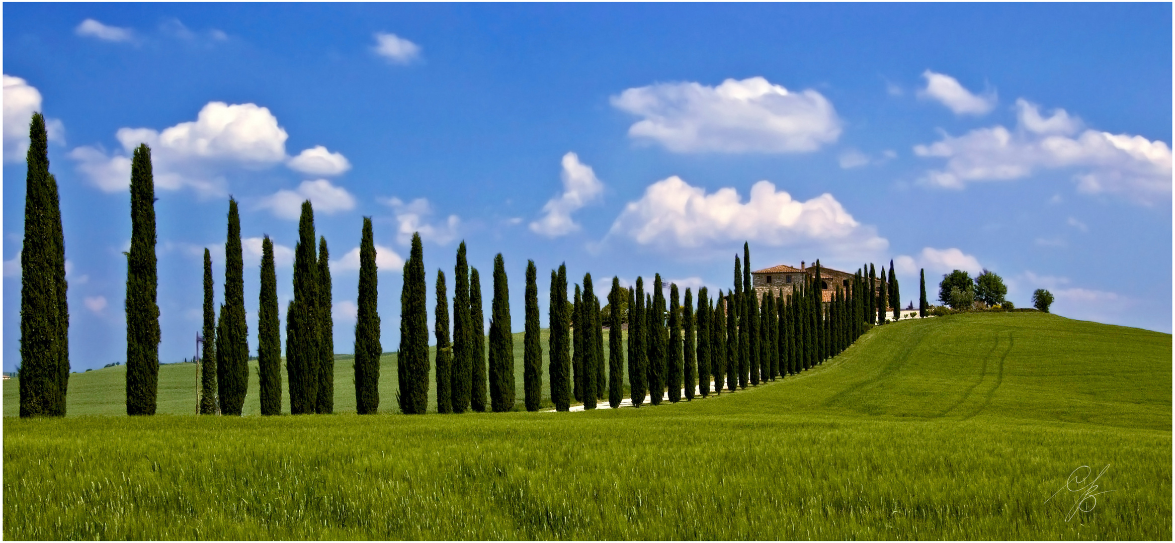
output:
[[[657,408],[8,418],[4,536],[1170,539],[1170,361],[1167,334],[954,315]],[[1043,503],[1106,464],[1089,511]]]

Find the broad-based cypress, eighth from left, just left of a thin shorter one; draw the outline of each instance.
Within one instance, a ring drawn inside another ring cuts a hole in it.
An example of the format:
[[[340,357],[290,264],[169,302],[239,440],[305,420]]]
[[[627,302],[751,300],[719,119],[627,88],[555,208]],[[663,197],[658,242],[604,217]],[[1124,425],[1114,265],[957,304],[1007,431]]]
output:
[[[404,287],[400,294],[400,410],[423,415],[429,401],[428,286],[421,234],[412,233],[412,248],[404,262]]]

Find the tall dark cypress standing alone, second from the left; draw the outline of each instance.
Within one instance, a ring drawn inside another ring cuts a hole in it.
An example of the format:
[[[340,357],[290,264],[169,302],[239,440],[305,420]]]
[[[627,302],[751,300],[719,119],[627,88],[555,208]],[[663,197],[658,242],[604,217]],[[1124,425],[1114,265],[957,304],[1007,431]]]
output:
[[[52,221],[52,210],[45,214]],[[46,228],[49,236],[53,227]],[[52,237],[51,237],[52,240]],[[54,250],[49,241],[48,250]],[[24,252],[33,250],[26,247]],[[47,395],[47,415],[55,415],[60,398],[58,375],[58,300],[53,281],[54,257],[48,260],[48,289],[45,299],[51,366],[47,375],[54,381]],[[130,252],[127,253],[127,415],[154,415],[155,395],[159,389],[159,304],[156,293],[159,280],[155,269],[155,181],[152,175],[150,148],[140,145],[130,162]],[[27,358],[26,358],[27,360]]]

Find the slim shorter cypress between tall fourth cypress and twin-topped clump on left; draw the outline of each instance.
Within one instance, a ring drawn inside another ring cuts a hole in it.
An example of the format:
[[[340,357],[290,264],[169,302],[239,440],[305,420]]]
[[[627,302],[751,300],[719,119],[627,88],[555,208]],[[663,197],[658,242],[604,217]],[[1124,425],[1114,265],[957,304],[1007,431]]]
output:
[[[282,414],[282,329],[277,316],[274,242],[261,240],[261,296],[257,302],[257,381],[261,414]]]

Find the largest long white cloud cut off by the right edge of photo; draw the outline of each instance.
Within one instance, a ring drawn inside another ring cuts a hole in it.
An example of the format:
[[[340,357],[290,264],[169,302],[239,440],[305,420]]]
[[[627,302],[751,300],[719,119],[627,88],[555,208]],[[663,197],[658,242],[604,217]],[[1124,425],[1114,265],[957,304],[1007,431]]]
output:
[[[924,182],[962,188],[972,181],[1013,180],[1038,169],[1079,169],[1077,190],[1121,194],[1141,203],[1171,192],[1171,152],[1162,141],[1139,135],[1081,130],[1063,109],[1045,118],[1026,100],[1016,101],[1018,126],[979,128],[961,136],[914,146],[922,157],[946,159],[944,169],[927,172]]]

